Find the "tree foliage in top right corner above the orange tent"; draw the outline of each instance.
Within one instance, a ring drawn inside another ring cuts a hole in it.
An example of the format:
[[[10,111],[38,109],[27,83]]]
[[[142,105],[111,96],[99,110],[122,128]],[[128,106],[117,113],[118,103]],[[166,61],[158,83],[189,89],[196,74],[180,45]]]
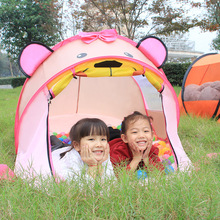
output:
[[[200,27],[204,31],[217,31],[217,37],[213,40],[212,46],[214,49],[220,50],[220,1],[192,2],[192,6],[200,10],[205,9],[205,13],[201,16]]]

